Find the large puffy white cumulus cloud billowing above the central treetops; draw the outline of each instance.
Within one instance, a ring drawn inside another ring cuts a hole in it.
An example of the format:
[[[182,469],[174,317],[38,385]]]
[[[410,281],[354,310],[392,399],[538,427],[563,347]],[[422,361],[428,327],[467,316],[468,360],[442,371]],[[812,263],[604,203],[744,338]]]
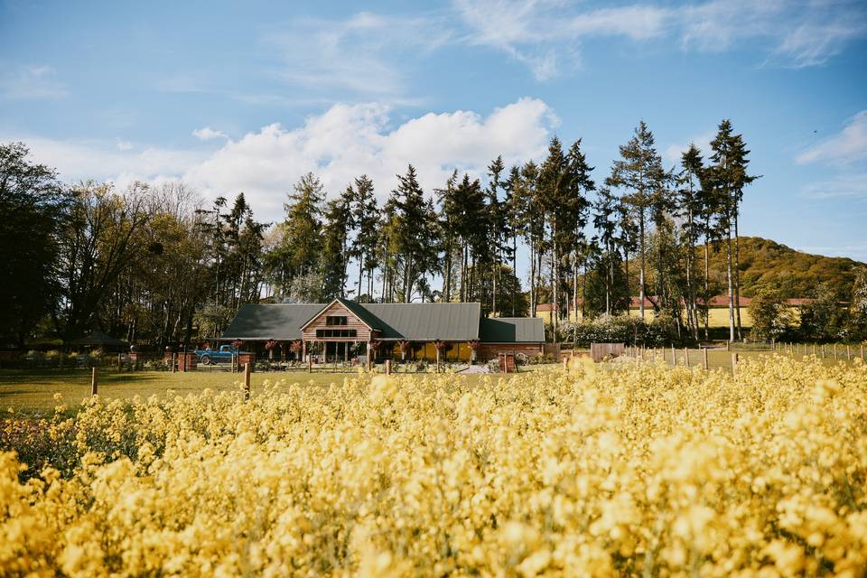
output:
[[[326,190],[341,191],[362,173],[380,198],[396,174],[413,163],[427,191],[453,169],[479,175],[498,154],[517,163],[545,153],[556,118],[538,99],[522,98],[488,117],[471,111],[426,114],[389,129],[389,109],[378,104],[335,105],[303,126],[263,127],[229,141],[184,179],[212,192],[245,191],[261,218],[279,219],[294,182],[315,172]]]

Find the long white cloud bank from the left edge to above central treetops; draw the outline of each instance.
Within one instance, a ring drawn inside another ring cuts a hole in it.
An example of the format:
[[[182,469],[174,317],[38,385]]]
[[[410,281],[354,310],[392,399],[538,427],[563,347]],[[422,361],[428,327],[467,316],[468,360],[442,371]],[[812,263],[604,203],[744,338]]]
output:
[[[395,127],[387,106],[340,104],[303,126],[264,126],[210,153],[156,148],[136,153],[118,151],[114,143],[20,140],[34,159],[55,166],[67,181],[111,179],[123,186],[180,178],[210,197],[244,191],[259,219],[277,220],[286,192],[305,172],[318,174],[331,193],[366,173],[382,199],[396,186],[396,174],[413,163],[430,193],[452,169],[480,176],[498,154],[507,165],[541,158],[557,122],[551,108],[535,98],[521,98],[487,117],[461,110],[430,113]]]

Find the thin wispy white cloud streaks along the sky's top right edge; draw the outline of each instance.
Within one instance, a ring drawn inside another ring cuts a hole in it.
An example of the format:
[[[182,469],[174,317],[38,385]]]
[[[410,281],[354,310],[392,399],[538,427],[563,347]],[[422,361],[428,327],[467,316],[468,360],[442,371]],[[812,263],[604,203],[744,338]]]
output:
[[[801,68],[824,64],[848,42],[867,35],[867,9],[857,0],[710,0],[637,3],[591,9],[561,0],[455,0],[469,28],[461,40],[508,54],[536,79],[574,68],[580,42],[620,37],[635,42],[678,39],[685,51],[726,51],[755,42],[757,63]]]

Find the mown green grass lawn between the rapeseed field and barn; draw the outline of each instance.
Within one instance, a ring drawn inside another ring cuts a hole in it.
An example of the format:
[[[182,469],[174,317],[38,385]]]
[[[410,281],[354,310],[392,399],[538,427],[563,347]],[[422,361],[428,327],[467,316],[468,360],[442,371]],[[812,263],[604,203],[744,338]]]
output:
[[[536,368],[552,368],[556,365],[530,366],[523,370]],[[285,379],[289,382],[313,383],[328,385],[342,383],[343,378],[352,377],[352,373],[321,373],[321,372],[262,372],[250,376],[250,388],[253,394],[260,391],[265,380],[272,383]],[[403,374],[395,374],[403,375]],[[410,374],[424,375],[424,374]],[[433,374],[429,374],[433,375]],[[461,376],[470,383],[478,383],[485,374]],[[497,378],[497,375],[491,376]],[[128,398],[133,396],[162,396],[168,391],[175,395],[198,393],[210,388],[215,391],[238,390],[244,375],[224,371],[193,371],[189,373],[170,373],[168,371],[135,371],[117,373],[103,368],[99,372],[99,395],[109,398]],[[89,369],[77,370],[0,370],[0,411],[13,408],[16,414],[40,415],[51,413],[54,406],[54,394],[60,393],[66,405],[72,407],[90,395]]]

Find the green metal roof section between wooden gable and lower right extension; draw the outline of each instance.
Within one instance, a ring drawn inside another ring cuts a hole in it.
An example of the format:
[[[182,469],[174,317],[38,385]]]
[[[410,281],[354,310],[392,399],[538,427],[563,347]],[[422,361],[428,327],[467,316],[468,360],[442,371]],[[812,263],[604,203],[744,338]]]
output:
[[[379,320],[377,339],[479,339],[479,303],[360,303]]]

